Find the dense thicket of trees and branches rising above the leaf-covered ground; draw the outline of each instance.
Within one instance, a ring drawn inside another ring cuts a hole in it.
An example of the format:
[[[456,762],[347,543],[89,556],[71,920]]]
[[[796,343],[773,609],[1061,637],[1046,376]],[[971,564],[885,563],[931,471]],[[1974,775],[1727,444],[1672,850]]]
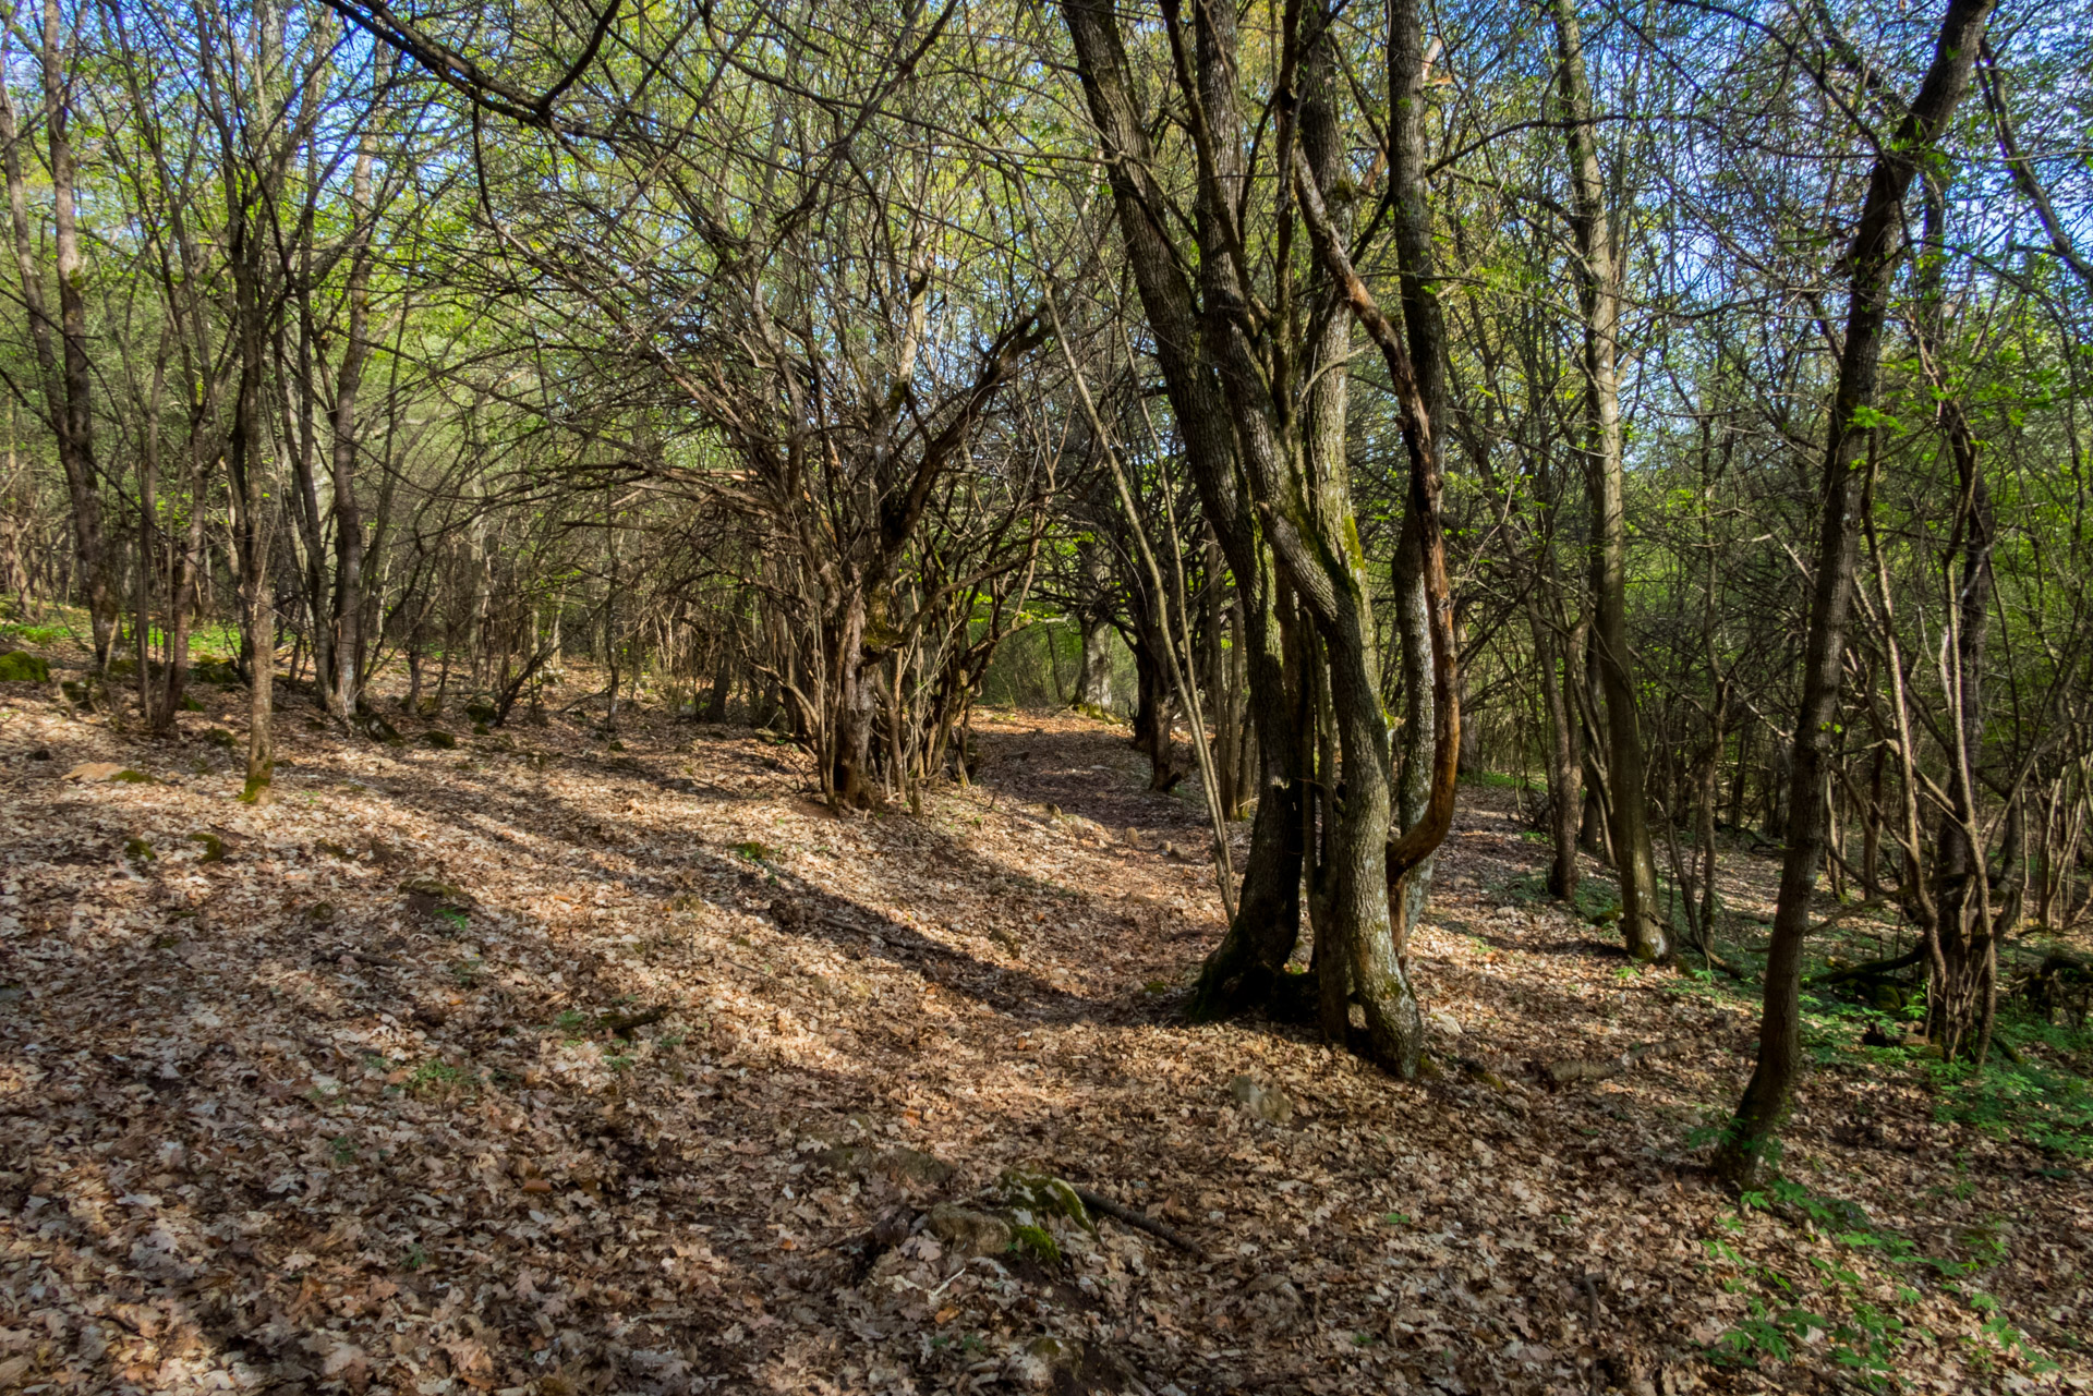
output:
[[[1641,959],[1783,850],[1739,1178],[1813,896],[1978,1059],[2093,898],[2080,6],[42,0],[0,73],[8,607],[151,733],[230,663],[253,800],[280,703],[668,693],[908,804],[1021,653],[1212,812],[1195,1011],[1409,1076],[1509,772]]]

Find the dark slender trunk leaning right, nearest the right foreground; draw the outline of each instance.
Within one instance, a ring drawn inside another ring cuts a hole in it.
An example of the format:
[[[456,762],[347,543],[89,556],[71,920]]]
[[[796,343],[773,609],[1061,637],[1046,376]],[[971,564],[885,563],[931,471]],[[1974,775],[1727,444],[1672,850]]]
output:
[[[1934,61],[1917,100],[1898,132],[1882,147],[1869,178],[1861,222],[1846,255],[1850,299],[1840,350],[1838,389],[1831,398],[1823,473],[1823,523],[1817,540],[1817,576],[1804,640],[1802,705],[1796,712],[1794,774],[1787,810],[1787,850],[1766,956],[1766,1003],[1758,1030],[1758,1065],[1737,1103],[1737,1113],[1716,1149],[1716,1172],[1750,1187],[1766,1164],[1787,1116],[1802,1069],[1802,948],[1810,927],[1810,898],[1825,843],[1823,776],[1838,726],[1840,676],[1846,657],[1846,622],[1859,555],[1854,502],[1867,473],[1873,427],[1882,329],[1903,253],[1905,193],[1970,86],[1990,0],[1949,0]]]

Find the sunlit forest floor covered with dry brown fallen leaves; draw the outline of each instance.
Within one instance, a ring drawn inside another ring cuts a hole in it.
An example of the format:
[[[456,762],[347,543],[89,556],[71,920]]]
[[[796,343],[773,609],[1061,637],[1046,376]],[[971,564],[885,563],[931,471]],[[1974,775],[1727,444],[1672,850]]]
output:
[[[846,818],[661,707],[293,707],[255,808],[199,695],[144,743],[0,684],[0,1390],[2093,1388],[2085,1155],[1831,1015],[1790,1183],[1727,1195],[1750,990],[1536,898],[1505,789],[1402,1084],[1180,1019],[1208,835],[1107,724],[980,714],[971,787]]]

